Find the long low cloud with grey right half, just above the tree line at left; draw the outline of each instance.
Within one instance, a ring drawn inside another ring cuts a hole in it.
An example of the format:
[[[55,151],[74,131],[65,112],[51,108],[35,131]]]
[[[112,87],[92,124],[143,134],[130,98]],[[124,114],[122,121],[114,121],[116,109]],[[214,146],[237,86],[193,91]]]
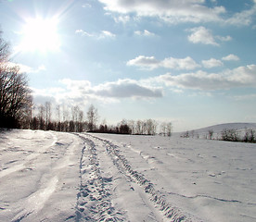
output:
[[[123,98],[152,99],[163,96],[160,87],[149,86],[138,80],[117,80],[92,86],[88,80],[59,80],[62,87],[44,90],[32,89],[37,103],[53,101],[58,104],[84,105],[88,101],[101,101],[104,103],[117,102]],[[45,99],[44,99],[45,98]]]

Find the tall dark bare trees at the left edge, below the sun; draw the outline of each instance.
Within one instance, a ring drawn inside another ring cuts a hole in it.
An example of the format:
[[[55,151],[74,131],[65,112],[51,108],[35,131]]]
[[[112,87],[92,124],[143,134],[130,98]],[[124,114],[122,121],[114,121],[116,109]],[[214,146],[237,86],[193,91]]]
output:
[[[0,31],[0,127],[17,128],[24,109],[31,102],[31,91],[19,67],[7,66],[9,45]]]

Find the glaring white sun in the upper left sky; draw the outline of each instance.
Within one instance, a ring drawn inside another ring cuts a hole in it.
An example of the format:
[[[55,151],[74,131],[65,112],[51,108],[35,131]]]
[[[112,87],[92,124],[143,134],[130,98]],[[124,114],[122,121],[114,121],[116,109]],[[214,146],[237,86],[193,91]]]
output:
[[[58,51],[60,47],[58,36],[58,19],[27,19],[19,44],[21,51],[39,51],[47,53]]]

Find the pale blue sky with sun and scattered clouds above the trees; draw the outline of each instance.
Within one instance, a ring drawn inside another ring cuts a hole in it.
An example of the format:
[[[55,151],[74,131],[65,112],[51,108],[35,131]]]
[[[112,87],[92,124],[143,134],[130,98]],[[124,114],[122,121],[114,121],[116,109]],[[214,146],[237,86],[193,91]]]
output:
[[[256,122],[256,0],[0,0],[35,105],[174,131]]]

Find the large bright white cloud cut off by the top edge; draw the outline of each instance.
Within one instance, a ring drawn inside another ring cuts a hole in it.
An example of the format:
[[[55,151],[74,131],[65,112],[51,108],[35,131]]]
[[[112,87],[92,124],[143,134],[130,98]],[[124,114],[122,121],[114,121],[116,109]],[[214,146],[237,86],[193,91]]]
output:
[[[105,10],[139,17],[158,17],[168,22],[205,22],[221,20],[224,6],[208,7],[203,0],[99,0]]]

